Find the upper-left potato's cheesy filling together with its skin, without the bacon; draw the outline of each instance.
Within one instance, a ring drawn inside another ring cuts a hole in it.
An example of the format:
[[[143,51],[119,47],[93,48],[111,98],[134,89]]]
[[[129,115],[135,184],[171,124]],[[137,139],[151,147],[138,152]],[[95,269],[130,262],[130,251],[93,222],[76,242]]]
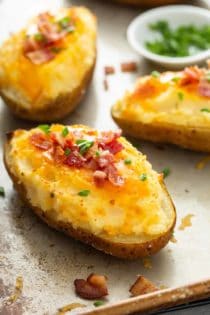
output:
[[[75,30],[63,41],[65,49],[43,64],[23,54],[23,41],[36,18],[11,36],[0,49],[0,94],[18,117],[54,121],[80,102],[96,61],[96,18],[84,7],[61,9],[57,15],[75,20]]]

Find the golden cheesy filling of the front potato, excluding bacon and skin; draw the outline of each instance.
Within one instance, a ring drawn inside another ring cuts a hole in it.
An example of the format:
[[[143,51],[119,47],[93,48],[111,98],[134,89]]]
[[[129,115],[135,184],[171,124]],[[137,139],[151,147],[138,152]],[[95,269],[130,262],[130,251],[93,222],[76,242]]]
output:
[[[83,132],[90,130],[84,126]],[[62,125],[53,125],[53,132],[61,132]],[[139,153],[124,138],[124,149],[116,154],[119,173],[125,178],[121,187],[106,181],[95,185],[93,171],[56,164],[35,148],[29,137],[39,129],[17,130],[11,141],[9,164],[12,173],[24,185],[33,206],[41,208],[58,221],[70,222],[97,235],[118,240],[128,236],[131,241],[141,236],[157,236],[171,224],[171,214],[164,210],[164,192],[160,176],[152,170],[146,156]],[[126,165],[125,159],[132,163]],[[141,174],[147,180],[140,180]],[[86,197],[78,195],[90,190]],[[52,197],[53,196],[53,197]],[[132,238],[133,236],[133,238]]]

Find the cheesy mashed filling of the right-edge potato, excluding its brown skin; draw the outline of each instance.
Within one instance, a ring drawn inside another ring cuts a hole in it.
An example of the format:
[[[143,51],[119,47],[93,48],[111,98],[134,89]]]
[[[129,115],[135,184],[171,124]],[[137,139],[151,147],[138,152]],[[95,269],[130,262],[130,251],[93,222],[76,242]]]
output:
[[[172,80],[180,75],[165,72],[158,78],[140,78],[134,89],[115,104],[114,116],[144,123],[209,126],[210,114],[201,109],[210,109],[210,98],[199,94],[197,84],[179,86]]]

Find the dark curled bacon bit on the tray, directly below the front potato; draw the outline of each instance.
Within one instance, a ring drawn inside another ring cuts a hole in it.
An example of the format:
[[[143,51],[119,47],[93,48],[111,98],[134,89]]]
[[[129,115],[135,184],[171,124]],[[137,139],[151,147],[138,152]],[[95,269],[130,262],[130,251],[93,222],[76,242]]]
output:
[[[75,291],[83,299],[100,299],[108,295],[106,280],[106,277],[97,274],[91,274],[87,280],[76,279]]]

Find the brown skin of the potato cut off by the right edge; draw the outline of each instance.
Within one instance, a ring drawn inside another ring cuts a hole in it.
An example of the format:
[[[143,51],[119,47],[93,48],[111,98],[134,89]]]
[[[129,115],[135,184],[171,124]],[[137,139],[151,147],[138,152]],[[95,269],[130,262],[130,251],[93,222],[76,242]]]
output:
[[[154,143],[175,144],[193,151],[210,152],[209,128],[192,128],[184,125],[177,127],[172,124],[144,124],[140,121],[127,121],[115,115],[114,107],[112,117],[125,134],[134,138]]]

